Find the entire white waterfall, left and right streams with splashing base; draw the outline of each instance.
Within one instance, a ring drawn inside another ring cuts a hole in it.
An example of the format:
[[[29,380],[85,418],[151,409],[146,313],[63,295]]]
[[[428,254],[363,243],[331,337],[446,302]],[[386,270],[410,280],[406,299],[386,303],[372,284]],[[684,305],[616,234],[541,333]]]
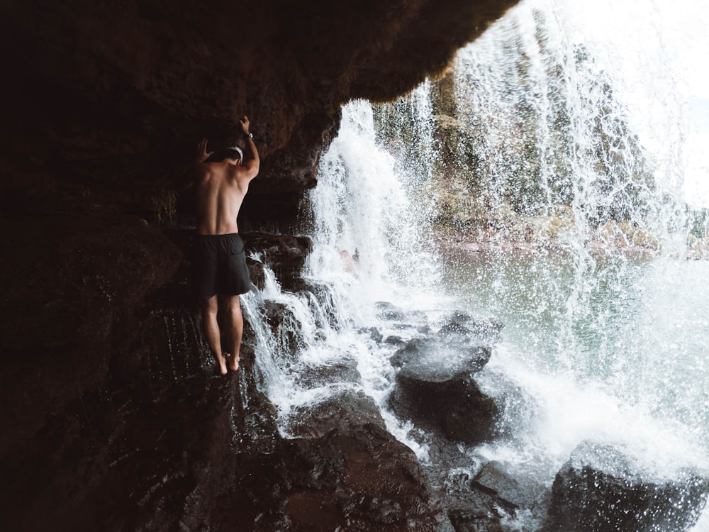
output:
[[[387,406],[390,358],[462,310],[505,324],[478,377],[503,436],[465,449],[446,482],[482,457],[548,488],[589,438],[663,478],[709,463],[709,267],[687,260],[709,228],[686,201],[679,96],[662,93],[652,131],[568,11],[523,2],[445,79],[343,107],[301,209],[308,289],[267,270],[242,301],[284,436],[320,401],[364,392],[430,465],[425,431]]]

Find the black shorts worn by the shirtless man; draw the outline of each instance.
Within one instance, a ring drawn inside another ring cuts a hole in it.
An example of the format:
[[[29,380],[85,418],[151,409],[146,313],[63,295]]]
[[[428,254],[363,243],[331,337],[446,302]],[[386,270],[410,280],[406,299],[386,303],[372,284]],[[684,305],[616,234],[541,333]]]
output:
[[[244,242],[238,233],[195,235],[192,289],[197,299],[238,296],[251,289]]]

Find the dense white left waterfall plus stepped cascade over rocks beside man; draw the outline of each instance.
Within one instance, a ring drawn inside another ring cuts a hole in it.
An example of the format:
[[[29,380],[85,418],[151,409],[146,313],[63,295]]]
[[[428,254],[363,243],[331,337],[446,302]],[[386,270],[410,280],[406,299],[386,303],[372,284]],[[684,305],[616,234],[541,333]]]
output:
[[[428,90],[416,95],[425,113]],[[281,290],[266,268],[264,289],[242,306],[254,328],[262,388],[279,410],[284,436],[318,402],[345,389],[364,391],[382,406],[390,431],[425,459],[425,446],[407,436],[411,426],[384,408],[394,347],[381,340],[415,333],[417,318],[401,323],[389,314],[435,306],[430,294],[440,276],[428,241],[430,205],[411,198],[412,183],[425,186],[431,165],[407,180],[400,161],[381,147],[374,121],[369,102],[351,102],[323,154],[318,187],[302,209],[314,241],[303,272],[308,290]],[[430,157],[430,139],[425,149]],[[277,307],[275,327],[269,306]]]

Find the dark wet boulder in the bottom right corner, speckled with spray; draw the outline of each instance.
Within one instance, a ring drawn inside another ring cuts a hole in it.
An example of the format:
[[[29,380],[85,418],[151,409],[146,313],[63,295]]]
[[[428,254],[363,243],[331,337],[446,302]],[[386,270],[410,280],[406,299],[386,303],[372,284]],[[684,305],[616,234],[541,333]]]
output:
[[[554,479],[545,531],[686,531],[708,494],[706,475],[661,479],[622,448],[586,440]]]

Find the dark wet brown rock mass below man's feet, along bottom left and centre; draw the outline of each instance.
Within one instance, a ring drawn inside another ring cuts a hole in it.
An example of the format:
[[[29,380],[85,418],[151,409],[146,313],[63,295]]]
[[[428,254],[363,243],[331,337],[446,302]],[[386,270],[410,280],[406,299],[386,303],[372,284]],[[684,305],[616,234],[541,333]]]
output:
[[[371,398],[303,409],[307,438],[287,440],[258,391],[251,338],[240,371],[221,376],[188,311],[153,309],[139,328],[136,361],[113,382],[6,448],[9,530],[435,530],[415,455]]]

